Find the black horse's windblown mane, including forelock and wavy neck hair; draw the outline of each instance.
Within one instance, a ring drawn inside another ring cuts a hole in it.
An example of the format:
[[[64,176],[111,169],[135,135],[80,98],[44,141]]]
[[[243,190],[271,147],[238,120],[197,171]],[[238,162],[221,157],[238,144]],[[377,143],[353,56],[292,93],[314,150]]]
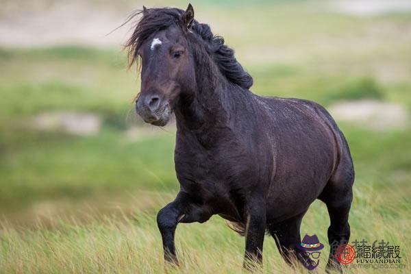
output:
[[[129,66],[132,66],[138,59],[137,51],[141,47],[142,42],[153,33],[171,27],[171,25],[182,27],[181,18],[183,13],[184,10],[177,8],[151,8],[134,12],[128,21],[132,20],[132,18],[138,14],[143,14],[143,16],[134,24],[134,32],[125,44],[129,53]],[[229,82],[243,88],[251,88],[253,85],[253,77],[251,77],[236,60],[234,50],[224,45],[223,37],[212,34],[209,25],[197,21],[194,21],[190,31],[199,36],[199,40],[205,46],[208,55],[210,55],[210,58],[216,66],[218,66],[221,74],[224,75]]]

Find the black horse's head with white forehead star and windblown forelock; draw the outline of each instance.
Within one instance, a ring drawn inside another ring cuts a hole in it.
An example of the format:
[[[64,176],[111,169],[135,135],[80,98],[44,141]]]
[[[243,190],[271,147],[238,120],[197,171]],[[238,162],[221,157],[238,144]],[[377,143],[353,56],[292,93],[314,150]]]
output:
[[[168,123],[178,97],[192,90],[195,82],[194,61],[187,40],[194,10],[188,5],[185,12],[177,9],[164,12],[178,12],[179,18],[158,18],[162,15],[158,11],[144,8],[128,45],[132,61],[141,58],[141,89],[136,112],[146,123],[158,126]]]

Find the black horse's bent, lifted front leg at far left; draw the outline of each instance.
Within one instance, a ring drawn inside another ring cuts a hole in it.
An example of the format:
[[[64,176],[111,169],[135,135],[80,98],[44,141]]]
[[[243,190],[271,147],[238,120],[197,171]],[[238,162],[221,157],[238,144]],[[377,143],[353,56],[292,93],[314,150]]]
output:
[[[179,264],[174,244],[177,223],[203,223],[210,219],[211,215],[205,206],[192,201],[185,192],[179,192],[174,201],[162,208],[157,214],[157,225],[162,237],[164,260]]]

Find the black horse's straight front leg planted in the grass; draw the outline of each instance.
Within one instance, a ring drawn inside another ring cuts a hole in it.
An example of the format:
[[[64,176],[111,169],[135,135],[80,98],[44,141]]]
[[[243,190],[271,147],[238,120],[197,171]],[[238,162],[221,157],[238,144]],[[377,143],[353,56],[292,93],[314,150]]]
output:
[[[262,264],[262,245],[266,229],[266,201],[252,199],[247,206],[245,230],[244,268],[252,270],[255,264]]]

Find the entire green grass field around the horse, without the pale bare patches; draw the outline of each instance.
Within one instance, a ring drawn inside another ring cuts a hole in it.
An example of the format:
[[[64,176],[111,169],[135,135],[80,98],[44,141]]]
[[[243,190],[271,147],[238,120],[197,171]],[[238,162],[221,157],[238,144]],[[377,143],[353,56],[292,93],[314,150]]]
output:
[[[410,115],[410,12],[360,17],[323,1],[192,2],[199,21],[236,49],[253,75],[253,92],[329,108],[372,99]],[[153,129],[135,116],[139,80],[125,61],[119,47],[75,42],[0,48],[0,273],[164,272],[155,214],[178,190],[175,129]],[[101,127],[75,135],[34,122],[62,111],[93,114]],[[375,129],[337,119],[356,167],[351,240],[400,245],[403,273],[411,268],[409,121]],[[325,205],[316,201],[301,234],[325,243],[328,225]],[[244,238],[219,217],[179,225],[176,242],[182,267],[171,272],[241,271]],[[328,251],[325,245],[319,273]],[[307,272],[286,266],[269,236],[262,271]]]

